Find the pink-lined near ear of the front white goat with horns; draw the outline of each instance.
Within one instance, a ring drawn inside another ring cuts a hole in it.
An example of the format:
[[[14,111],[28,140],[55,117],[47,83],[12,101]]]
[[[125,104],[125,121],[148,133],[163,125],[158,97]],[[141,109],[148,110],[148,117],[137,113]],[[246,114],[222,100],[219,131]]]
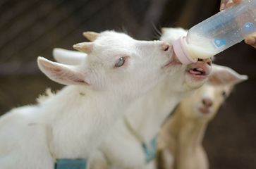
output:
[[[39,69],[49,77],[49,79],[60,84],[87,84],[85,81],[86,71],[78,66],[64,65],[47,60],[43,57],[37,58]]]

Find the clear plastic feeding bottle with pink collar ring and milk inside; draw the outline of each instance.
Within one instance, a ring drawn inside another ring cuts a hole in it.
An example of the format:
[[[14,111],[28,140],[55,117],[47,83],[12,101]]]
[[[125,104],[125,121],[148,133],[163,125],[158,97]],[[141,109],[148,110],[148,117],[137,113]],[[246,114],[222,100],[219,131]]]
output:
[[[256,0],[244,0],[190,28],[173,49],[182,63],[189,64],[219,54],[252,32],[256,32]]]

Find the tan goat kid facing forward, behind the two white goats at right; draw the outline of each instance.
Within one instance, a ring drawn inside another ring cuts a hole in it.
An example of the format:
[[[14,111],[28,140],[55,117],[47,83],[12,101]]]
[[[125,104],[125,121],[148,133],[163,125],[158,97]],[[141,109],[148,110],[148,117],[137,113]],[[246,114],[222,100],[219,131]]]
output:
[[[159,169],[207,169],[202,139],[207,124],[235,84],[247,80],[231,68],[214,65],[209,82],[181,101],[159,134]]]

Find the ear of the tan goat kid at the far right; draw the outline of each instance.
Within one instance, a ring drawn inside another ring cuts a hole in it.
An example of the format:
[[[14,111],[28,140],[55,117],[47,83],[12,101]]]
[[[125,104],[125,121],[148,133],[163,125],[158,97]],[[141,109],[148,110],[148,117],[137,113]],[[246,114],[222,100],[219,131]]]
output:
[[[245,80],[248,80],[247,75],[240,75],[235,70],[221,65],[212,65],[212,73],[208,80],[215,85],[235,85]]]

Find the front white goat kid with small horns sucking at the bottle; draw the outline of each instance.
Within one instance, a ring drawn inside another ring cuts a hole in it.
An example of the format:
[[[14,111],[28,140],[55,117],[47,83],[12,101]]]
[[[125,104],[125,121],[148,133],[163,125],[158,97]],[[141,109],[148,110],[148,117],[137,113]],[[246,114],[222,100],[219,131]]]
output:
[[[166,42],[137,41],[112,31],[96,37],[74,46],[88,54],[80,65],[37,59],[51,80],[68,86],[0,118],[1,169],[52,169],[56,159],[88,158],[129,101],[172,70]]]

